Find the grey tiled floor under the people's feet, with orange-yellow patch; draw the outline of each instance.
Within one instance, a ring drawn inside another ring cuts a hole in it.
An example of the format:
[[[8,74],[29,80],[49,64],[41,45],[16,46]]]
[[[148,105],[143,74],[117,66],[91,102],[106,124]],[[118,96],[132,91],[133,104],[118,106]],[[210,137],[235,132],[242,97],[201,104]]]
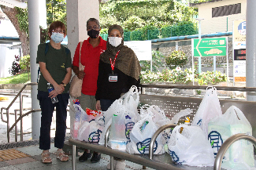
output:
[[[8,150],[0,150],[0,170],[24,170],[24,169],[39,169],[39,170],[70,170],[72,169],[72,156],[69,155],[68,162],[61,162],[56,158],[54,152],[54,143],[51,143],[50,157],[52,164],[45,165],[41,161],[42,150],[39,150],[39,145],[23,146]],[[125,170],[138,170],[143,169],[142,165],[136,165],[132,162],[125,161]],[[101,161],[96,164],[91,164],[91,161],[79,162],[76,157],[76,169],[88,170],[105,170],[106,165],[109,163],[109,156],[102,155]],[[147,168],[151,170],[152,168]]]

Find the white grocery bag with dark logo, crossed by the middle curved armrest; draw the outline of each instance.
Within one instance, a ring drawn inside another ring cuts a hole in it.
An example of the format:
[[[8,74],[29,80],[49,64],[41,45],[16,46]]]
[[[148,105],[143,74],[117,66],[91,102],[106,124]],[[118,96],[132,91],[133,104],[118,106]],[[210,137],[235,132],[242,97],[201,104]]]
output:
[[[146,114],[132,128],[126,151],[130,154],[149,154],[150,140],[154,132],[158,130],[152,119],[152,115]],[[163,136],[159,135],[154,143],[154,154],[164,154]]]

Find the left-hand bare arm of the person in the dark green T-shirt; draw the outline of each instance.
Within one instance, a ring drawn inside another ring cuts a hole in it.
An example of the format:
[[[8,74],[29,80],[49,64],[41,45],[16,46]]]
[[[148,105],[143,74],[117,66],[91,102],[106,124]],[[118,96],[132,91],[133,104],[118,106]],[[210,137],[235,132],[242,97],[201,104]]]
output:
[[[49,93],[49,96],[53,98],[58,94],[61,94],[61,92],[64,91],[64,87],[62,85],[58,85],[57,82],[54,81],[54,78],[51,77],[49,71],[47,71],[46,69],[46,63],[39,61],[39,67],[40,67],[41,73],[43,74],[43,78],[45,78],[46,81],[50,82],[50,84],[54,85],[54,90]]]

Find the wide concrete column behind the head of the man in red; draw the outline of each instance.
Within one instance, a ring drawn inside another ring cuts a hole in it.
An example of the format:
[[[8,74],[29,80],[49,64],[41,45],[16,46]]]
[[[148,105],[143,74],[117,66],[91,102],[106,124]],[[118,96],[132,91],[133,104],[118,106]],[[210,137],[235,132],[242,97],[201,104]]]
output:
[[[68,48],[72,57],[78,42],[88,38],[86,22],[89,18],[99,20],[99,3],[97,0],[67,1]]]

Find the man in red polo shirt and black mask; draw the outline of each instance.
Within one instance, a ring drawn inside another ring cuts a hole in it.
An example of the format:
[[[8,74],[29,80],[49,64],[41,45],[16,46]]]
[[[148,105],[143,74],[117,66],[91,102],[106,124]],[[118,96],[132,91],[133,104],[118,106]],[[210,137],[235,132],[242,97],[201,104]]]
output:
[[[90,36],[83,41],[80,56],[80,42],[76,47],[75,56],[72,62],[72,70],[78,78],[83,79],[82,95],[78,98],[83,110],[90,108],[96,110],[95,93],[97,91],[98,63],[99,56],[106,50],[106,41],[99,36],[100,25],[97,19],[87,20],[87,34]],[[79,59],[83,66],[83,71],[79,71]],[[90,150],[85,150],[79,157],[79,161],[87,161],[91,157]],[[94,152],[91,162],[98,162],[101,154]]]

